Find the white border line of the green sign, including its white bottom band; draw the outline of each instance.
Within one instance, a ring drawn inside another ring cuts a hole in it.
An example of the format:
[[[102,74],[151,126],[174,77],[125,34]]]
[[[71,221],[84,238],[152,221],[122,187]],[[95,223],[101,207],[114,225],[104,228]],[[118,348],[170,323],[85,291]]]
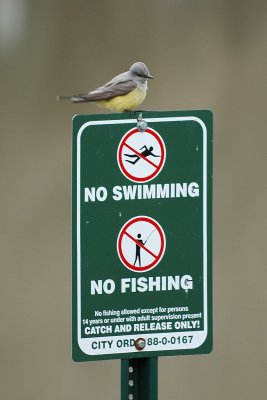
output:
[[[74,117],[75,118],[75,117]],[[188,117],[157,117],[157,118],[145,118],[146,122],[184,122],[184,121],[195,121],[198,123],[203,132],[203,306],[204,306],[204,329],[203,331],[188,331],[188,332],[170,332],[170,333],[152,333],[144,334],[144,339],[148,338],[167,338],[167,344],[159,346],[146,346],[145,352],[147,351],[168,351],[168,350],[189,350],[200,347],[206,340],[208,334],[208,288],[207,288],[207,128],[204,122],[195,116]],[[100,340],[97,338],[82,338],[81,336],[81,230],[80,230],[80,218],[81,218],[81,196],[80,196],[80,183],[81,183],[81,136],[86,128],[89,126],[96,125],[116,125],[116,124],[136,124],[136,119],[122,119],[122,120],[104,120],[104,121],[89,121],[84,123],[77,134],[77,164],[76,164],[76,179],[77,179],[77,337],[78,344],[81,351],[89,356],[102,356],[106,354],[125,354],[125,353],[136,353],[134,346],[124,346],[123,351],[121,347],[118,347],[117,343],[119,340],[138,339],[138,335],[123,335],[123,336],[107,336],[101,337]],[[172,344],[171,338],[173,336],[192,336],[193,340],[191,343]],[[112,345],[109,348],[99,349],[97,345],[93,345],[97,342],[112,341]],[[94,349],[96,347],[96,349]]]

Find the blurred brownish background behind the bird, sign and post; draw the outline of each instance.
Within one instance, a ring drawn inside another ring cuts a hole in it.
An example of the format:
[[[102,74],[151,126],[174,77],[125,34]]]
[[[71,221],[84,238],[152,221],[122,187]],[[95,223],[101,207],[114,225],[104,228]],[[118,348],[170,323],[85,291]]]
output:
[[[104,111],[55,98],[135,61],[144,109],[214,112],[214,350],[159,399],[264,398],[266,43],[266,0],[0,0],[1,399],[119,399],[119,360],[71,360],[71,118]]]

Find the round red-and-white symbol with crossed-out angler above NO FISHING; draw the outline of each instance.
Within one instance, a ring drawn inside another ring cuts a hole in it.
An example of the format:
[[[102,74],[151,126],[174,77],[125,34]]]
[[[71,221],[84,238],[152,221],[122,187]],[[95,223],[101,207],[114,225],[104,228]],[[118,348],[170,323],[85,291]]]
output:
[[[139,216],[130,219],[121,229],[117,251],[122,263],[132,271],[143,272],[154,268],[165,251],[165,235],[154,219]]]

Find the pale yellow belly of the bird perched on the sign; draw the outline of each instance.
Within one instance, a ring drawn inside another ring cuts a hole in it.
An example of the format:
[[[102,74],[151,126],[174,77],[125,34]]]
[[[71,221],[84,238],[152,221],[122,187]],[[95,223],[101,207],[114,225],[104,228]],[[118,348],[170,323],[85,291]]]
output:
[[[109,100],[100,100],[97,104],[111,111],[130,111],[138,107],[144,101],[145,97],[146,91],[136,88],[123,96],[113,97],[113,99]]]

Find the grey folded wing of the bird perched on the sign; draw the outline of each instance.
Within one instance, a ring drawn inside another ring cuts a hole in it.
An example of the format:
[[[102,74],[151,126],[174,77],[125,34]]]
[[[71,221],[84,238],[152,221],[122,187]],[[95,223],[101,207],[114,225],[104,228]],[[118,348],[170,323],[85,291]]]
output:
[[[116,96],[123,96],[137,87],[137,83],[129,78],[127,73],[122,73],[110,82],[106,83],[92,92],[74,96],[76,101],[98,101],[108,100]]]

